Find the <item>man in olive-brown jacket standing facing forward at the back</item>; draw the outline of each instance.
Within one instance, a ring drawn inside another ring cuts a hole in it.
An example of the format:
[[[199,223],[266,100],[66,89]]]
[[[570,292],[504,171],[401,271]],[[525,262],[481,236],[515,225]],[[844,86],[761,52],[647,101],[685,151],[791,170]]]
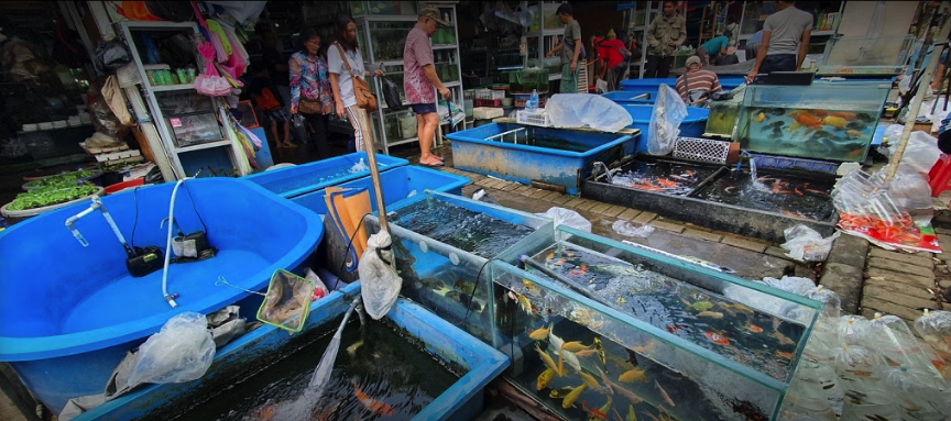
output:
[[[664,14],[654,18],[647,27],[647,65],[645,78],[667,77],[674,63],[674,52],[687,41],[687,24],[677,14],[677,2],[665,1]]]

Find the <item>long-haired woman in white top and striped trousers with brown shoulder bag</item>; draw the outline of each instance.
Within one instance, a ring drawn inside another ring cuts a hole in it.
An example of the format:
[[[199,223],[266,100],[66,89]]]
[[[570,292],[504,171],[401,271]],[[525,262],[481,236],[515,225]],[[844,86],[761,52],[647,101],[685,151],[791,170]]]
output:
[[[330,87],[334,90],[334,104],[337,115],[347,115],[353,126],[354,151],[363,151],[363,140],[373,139],[370,118],[367,110],[357,107],[353,93],[353,76],[367,78],[370,71],[363,67],[363,57],[357,48],[357,23],[347,14],[337,15],[337,41],[327,51],[327,65],[330,68]],[[347,63],[345,63],[345,59]],[[350,71],[347,71],[347,66]],[[383,76],[383,71],[374,71],[374,76]]]

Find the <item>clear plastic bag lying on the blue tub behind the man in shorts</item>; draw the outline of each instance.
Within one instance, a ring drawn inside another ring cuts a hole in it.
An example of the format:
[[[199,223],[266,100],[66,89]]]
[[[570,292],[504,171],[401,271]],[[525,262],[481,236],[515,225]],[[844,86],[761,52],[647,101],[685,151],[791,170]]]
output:
[[[545,111],[555,128],[590,126],[614,133],[634,123],[624,107],[600,95],[556,93]]]

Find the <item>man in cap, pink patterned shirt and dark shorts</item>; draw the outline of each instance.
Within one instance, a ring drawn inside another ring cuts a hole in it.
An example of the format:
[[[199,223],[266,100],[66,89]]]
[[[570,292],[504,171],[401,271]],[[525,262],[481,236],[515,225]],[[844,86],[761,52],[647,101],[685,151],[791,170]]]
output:
[[[436,75],[433,64],[433,46],[429,38],[436,33],[438,25],[448,25],[439,19],[439,9],[426,5],[419,10],[416,25],[406,36],[403,47],[403,90],[406,101],[416,114],[416,135],[419,139],[419,165],[427,167],[442,166],[442,157],[436,156],[433,148],[433,137],[439,125],[439,114],[436,112],[436,91],[442,99],[450,97],[449,89]]]

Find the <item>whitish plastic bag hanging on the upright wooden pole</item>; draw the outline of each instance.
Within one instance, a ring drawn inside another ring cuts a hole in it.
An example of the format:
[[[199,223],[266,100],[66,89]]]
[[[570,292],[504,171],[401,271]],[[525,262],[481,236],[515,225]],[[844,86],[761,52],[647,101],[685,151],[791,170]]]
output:
[[[370,235],[367,240],[367,251],[363,252],[360,265],[357,267],[362,285],[363,308],[373,320],[386,315],[396,302],[400,287],[403,285],[400,275],[396,275],[396,269],[387,263],[393,262],[391,244],[390,234],[385,231]]]

